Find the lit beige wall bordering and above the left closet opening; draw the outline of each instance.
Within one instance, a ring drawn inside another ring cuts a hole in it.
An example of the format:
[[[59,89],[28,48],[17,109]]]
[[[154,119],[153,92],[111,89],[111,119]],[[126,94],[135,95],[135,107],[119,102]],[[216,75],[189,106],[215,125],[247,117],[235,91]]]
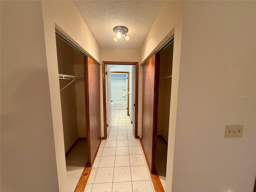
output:
[[[66,161],[60,103],[60,86],[58,81],[58,64],[56,54],[55,28],[71,40],[76,46],[101,61],[100,46],[72,1],[42,1],[46,59],[48,66],[56,165],[60,191],[67,190]]]

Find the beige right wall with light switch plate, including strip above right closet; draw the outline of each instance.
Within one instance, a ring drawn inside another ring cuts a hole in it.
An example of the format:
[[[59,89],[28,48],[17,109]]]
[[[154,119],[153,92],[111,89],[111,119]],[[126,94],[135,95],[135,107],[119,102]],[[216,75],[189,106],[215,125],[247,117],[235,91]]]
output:
[[[166,191],[253,190],[256,102],[241,95],[256,93],[255,10],[165,1],[152,25],[141,62],[174,32]],[[243,124],[243,137],[224,138],[229,124]]]

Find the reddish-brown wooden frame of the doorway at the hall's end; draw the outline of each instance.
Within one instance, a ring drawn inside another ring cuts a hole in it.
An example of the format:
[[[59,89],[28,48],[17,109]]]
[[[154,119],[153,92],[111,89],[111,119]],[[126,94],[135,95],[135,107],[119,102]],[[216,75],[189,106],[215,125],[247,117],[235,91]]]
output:
[[[139,86],[139,63],[138,62],[116,62],[102,61],[102,86],[103,86],[103,121],[104,137],[107,139],[107,116],[106,116],[106,66],[105,65],[135,65],[136,66],[136,88],[135,88],[135,138],[138,139],[138,86]]]

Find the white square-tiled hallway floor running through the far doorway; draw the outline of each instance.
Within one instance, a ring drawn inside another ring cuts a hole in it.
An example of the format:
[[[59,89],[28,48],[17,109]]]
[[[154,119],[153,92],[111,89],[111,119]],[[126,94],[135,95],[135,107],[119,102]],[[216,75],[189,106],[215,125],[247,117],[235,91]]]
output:
[[[110,136],[100,144],[84,191],[154,192],[140,141],[132,135],[126,110],[114,110]]]

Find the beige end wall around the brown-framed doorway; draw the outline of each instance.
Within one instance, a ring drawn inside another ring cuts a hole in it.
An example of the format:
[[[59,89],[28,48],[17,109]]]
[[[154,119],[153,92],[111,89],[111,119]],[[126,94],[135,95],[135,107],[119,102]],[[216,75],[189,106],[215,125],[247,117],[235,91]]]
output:
[[[102,61],[123,61],[123,62],[139,62],[140,64],[140,51],[133,49],[102,49],[101,50]],[[100,69],[102,73],[102,68]],[[138,92],[138,135],[141,138],[141,127],[142,127],[142,66],[139,65],[139,92]],[[101,97],[102,97],[102,76],[101,78]],[[103,102],[103,98],[101,98]],[[101,104],[103,106],[103,103]],[[103,127],[103,107],[101,109],[101,125],[102,125],[102,137],[104,136]]]

